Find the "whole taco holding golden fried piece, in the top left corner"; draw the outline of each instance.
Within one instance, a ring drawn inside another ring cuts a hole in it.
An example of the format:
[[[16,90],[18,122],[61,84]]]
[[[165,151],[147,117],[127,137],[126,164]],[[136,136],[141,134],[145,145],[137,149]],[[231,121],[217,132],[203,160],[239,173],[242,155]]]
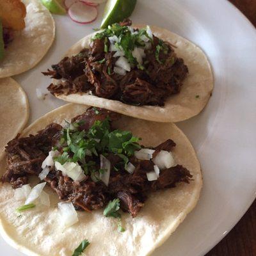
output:
[[[55,25],[40,0],[0,1],[0,77],[25,72],[52,45]]]

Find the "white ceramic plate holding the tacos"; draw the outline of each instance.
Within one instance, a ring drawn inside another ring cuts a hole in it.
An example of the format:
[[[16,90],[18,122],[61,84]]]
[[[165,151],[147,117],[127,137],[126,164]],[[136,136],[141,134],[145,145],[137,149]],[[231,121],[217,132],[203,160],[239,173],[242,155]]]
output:
[[[101,12],[102,13],[101,6]],[[67,49],[99,27],[55,16],[56,41],[33,70],[14,77],[28,93],[31,122],[64,102],[36,88],[50,83],[40,72],[57,63]],[[154,252],[154,256],[198,256],[207,253],[234,227],[256,192],[256,31],[225,0],[138,0],[134,22],[170,29],[202,47],[214,70],[215,88],[205,110],[181,122],[202,164],[204,189],[195,211]],[[17,110],[19,111],[19,110]],[[1,255],[22,255],[0,240]]]

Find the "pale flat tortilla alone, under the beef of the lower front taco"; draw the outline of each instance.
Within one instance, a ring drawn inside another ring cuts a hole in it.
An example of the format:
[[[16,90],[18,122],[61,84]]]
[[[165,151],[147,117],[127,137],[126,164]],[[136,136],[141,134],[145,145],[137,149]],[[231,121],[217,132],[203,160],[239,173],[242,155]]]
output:
[[[22,136],[36,134],[51,122],[62,124],[80,115],[88,106],[67,104],[51,111],[22,132]],[[51,207],[36,205],[30,211],[19,214],[17,207],[24,204],[14,198],[14,189],[4,183],[0,187],[0,230],[6,241],[27,255],[70,256],[83,239],[90,245],[84,255],[142,256],[149,255],[164,243],[187,214],[195,207],[202,187],[200,163],[188,138],[175,124],[148,122],[129,116],[122,116],[113,122],[118,129],[132,131],[141,137],[141,143],[156,146],[172,138],[177,144],[173,156],[177,164],[182,164],[193,175],[189,184],[180,183],[175,188],[150,193],[136,218],[122,213],[122,226],[125,232],[118,232],[115,218],[106,218],[103,209],[92,213],[78,211],[79,222],[61,230],[61,217],[58,214],[57,195],[47,186],[45,191],[51,198]],[[0,162],[1,175],[5,172],[6,159]],[[31,179],[32,186],[38,178]]]

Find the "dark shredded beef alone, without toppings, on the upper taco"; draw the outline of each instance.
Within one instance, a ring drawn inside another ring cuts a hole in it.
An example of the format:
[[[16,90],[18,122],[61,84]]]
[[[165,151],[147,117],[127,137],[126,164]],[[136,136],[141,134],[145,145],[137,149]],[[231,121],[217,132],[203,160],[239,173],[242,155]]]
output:
[[[131,26],[131,20],[124,20],[120,24]],[[120,76],[113,72],[118,58],[113,56],[114,52],[104,52],[104,38],[97,38],[92,41],[89,49],[71,58],[65,57],[60,63],[52,65],[52,70],[43,72],[45,76],[60,79],[58,84],[50,84],[48,90],[53,95],[90,92],[98,97],[136,106],[164,106],[164,101],[170,95],[180,92],[188,67],[177,57],[168,42],[164,42],[168,51],[161,51],[161,61],[157,61],[158,44],[159,38],[154,36],[152,49],[145,51],[145,70],[133,67],[131,72]],[[77,77],[81,77],[78,83]]]

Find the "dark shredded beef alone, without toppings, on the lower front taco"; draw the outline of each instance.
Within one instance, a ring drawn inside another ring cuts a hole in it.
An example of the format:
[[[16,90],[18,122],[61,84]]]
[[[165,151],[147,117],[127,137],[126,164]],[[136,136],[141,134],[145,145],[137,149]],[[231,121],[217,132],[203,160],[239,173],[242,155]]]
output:
[[[82,115],[73,118],[72,122],[80,122],[79,129],[87,131],[95,121],[102,121],[107,116],[111,121],[119,118],[118,114],[106,109],[90,108]],[[62,136],[61,130],[61,125],[52,123],[36,135],[25,138],[17,136],[10,141],[6,146],[7,170],[2,177],[3,182],[10,182],[13,188],[19,188],[28,183],[29,175],[38,176],[42,172],[41,166],[45,157],[52,146],[58,144]],[[175,143],[172,140],[166,140],[154,149],[156,152],[170,151],[173,147]],[[72,202],[77,210],[91,212],[105,207],[109,200],[119,198],[121,209],[129,212],[132,217],[136,217],[145,204],[148,193],[158,189],[172,188],[179,182],[189,182],[192,177],[189,170],[177,165],[161,170],[157,180],[148,181],[147,172],[154,170],[154,163],[151,160],[130,157],[129,161],[135,166],[131,174],[125,170],[123,159],[118,155],[109,153],[106,157],[111,162],[108,186],[103,182],[93,181],[90,175],[86,175],[81,182],[74,181],[67,175],[63,175],[63,172],[55,170],[53,166],[44,180],[57,193],[60,200]],[[96,168],[99,168],[99,157],[87,156],[86,162],[88,161],[95,161]],[[114,167],[120,166],[120,163],[122,167],[116,171]]]

